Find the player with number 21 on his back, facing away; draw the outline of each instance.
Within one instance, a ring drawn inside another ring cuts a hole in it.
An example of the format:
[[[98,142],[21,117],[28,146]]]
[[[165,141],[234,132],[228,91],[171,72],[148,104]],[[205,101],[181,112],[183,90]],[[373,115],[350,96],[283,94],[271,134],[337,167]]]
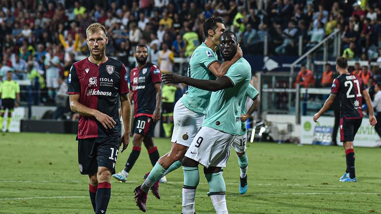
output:
[[[325,101],[324,106],[314,115],[314,121],[332,105],[336,96],[340,100],[340,140],[343,142],[347,168],[340,182],[357,182],[355,174],[355,151],[353,140],[363,120],[362,102],[363,97],[369,109],[369,123],[374,126],[377,123],[373,112],[372,102],[368,91],[365,89],[363,80],[348,72],[348,62],[344,57],[336,59],[336,70],[340,76],[333,80],[331,94]]]

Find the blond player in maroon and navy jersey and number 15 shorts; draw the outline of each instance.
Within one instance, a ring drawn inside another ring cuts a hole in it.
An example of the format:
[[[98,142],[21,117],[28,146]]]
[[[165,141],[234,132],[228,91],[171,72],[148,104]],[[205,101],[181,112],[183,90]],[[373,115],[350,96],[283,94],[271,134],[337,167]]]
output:
[[[80,114],[78,122],[78,162],[81,174],[89,176],[89,194],[96,214],[106,213],[111,197],[111,175],[123,143],[129,143],[131,104],[128,98],[125,65],[106,56],[105,28],[99,23],[86,30],[90,56],[70,68],[68,90],[70,108]],[[124,133],[121,137],[119,106]]]

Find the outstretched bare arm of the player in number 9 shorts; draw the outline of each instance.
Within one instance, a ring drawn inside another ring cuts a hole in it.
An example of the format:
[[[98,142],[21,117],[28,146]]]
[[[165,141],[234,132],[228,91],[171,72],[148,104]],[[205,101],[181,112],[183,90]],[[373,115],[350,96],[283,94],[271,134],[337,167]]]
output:
[[[231,88],[234,86],[232,81],[226,76],[223,76],[216,80],[200,80],[200,79],[194,79],[191,77],[185,77],[179,74],[171,73],[171,74],[161,75],[161,79],[166,84],[185,83],[187,85],[190,85],[202,90],[206,90],[206,91],[218,91],[218,90],[222,90],[226,88]]]

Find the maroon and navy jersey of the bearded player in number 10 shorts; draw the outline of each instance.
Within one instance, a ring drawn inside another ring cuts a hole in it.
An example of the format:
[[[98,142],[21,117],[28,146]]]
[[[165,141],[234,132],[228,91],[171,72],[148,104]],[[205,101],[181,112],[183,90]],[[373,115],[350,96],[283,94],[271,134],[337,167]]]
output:
[[[157,65],[150,62],[130,72],[130,89],[133,93],[134,117],[153,117],[156,107],[155,84],[161,83],[161,72]]]

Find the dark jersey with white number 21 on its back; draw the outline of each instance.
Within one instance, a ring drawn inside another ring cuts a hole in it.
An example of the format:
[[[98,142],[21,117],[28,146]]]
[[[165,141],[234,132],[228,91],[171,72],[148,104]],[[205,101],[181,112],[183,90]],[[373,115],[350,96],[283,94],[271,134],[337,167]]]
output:
[[[350,73],[342,74],[333,80],[331,94],[336,94],[340,100],[341,117],[347,119],[363,117],[363,95],[365,90],[363,80]]]

